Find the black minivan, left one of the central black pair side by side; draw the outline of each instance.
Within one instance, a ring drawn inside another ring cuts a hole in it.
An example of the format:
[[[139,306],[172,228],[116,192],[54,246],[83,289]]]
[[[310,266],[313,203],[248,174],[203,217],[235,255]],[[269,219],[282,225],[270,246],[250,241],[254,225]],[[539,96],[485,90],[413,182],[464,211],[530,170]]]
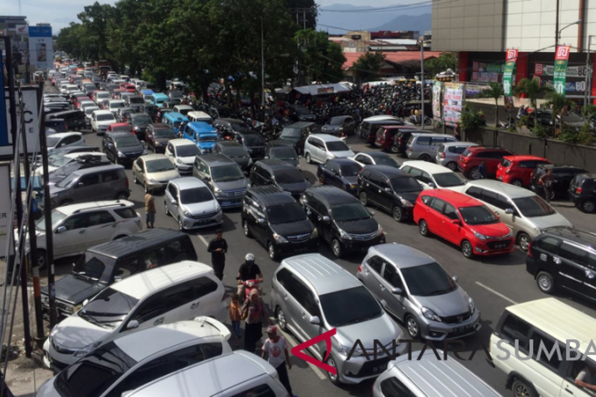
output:
[[[242,207],[242,229],[263,245],[269,258],[316,252],[319,236],[302,206],[278,186],[250,187]]]

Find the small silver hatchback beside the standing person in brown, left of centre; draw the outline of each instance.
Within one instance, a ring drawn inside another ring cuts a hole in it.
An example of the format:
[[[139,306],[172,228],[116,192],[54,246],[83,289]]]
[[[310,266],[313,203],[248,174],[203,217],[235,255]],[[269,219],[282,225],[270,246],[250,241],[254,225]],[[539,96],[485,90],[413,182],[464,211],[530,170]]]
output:
[[[221,205],[209,187],[195,177],[170,180],[163,206],[166,215],[176,218],[180,230],[224,223]]]

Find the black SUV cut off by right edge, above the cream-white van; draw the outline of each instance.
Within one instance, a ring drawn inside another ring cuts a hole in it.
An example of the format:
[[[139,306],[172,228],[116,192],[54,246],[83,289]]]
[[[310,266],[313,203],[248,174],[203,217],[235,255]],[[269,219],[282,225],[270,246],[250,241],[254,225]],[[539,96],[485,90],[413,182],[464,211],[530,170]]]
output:
[[[548,227],[532,240],[526,270],[545,293],[562,287],[596,301],[596,234],[571,227]]]

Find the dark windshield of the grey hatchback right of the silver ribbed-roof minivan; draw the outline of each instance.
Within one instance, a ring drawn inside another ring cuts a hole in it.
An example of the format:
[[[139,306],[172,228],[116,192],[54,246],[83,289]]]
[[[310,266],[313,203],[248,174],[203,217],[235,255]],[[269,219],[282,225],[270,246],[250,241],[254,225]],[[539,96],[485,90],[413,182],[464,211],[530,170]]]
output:
[[[409,292],[414,296],[443,295],[457,289],[457,284],[437,262],[401,269]]]

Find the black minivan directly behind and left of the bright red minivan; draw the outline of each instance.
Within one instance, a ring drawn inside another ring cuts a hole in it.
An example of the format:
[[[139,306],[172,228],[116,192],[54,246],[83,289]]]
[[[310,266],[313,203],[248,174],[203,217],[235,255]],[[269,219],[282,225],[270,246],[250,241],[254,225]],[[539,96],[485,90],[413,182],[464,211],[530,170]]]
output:
[[[412,218],[423,187],[418,180],[388,165],[367,165],[358,176],[357,195],[362,205],[374,205],[403,222]]]

